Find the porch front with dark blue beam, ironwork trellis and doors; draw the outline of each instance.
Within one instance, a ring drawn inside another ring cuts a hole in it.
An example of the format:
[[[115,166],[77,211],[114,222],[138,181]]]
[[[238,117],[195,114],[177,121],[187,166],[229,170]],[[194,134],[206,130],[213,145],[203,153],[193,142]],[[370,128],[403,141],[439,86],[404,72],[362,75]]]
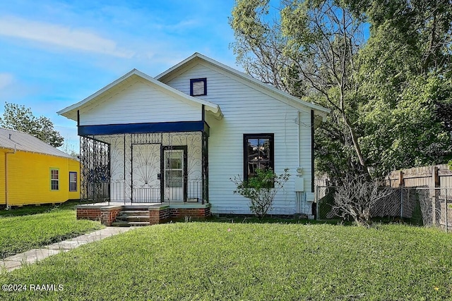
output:
[[[209,129],[203,121],[193,125],[79,126],[81,199],[208,204]],[[168,128],[174,131],[160,132]]]

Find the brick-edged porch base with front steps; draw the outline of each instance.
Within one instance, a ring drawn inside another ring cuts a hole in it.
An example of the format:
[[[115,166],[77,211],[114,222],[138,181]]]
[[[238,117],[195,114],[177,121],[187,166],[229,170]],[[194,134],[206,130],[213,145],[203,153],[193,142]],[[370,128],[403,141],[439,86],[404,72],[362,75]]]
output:
[[[103,202],[79,204],[76,211],[77,219],[100,221],[105,226],[148,226],[180,219],[206,219],[210,216],[210,204]],[[132,221],[119,222],[119,216],[126,216]]]

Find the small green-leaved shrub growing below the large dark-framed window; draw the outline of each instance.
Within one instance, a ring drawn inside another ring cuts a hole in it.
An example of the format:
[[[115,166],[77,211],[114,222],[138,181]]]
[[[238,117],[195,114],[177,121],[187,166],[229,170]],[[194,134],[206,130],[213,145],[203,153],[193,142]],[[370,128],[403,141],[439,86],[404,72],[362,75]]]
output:
[[[256,174],[248,180],[242,180],[240,176],[235,176],[232,182],[237,185],[234,193],[243,195],[250,201],[249,209],[259,218],[266,216],[268,210],[272,208],[276,193],[283,188],[289,180],[289,169],[285,168],[284,173],[277,176],[272,169],[263,170],[258,168]]]

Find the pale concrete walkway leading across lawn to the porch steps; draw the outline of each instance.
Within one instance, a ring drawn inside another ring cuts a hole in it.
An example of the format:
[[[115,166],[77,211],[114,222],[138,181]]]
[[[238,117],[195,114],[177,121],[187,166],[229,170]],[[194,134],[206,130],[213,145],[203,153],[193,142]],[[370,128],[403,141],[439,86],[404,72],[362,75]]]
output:
[[[85,245],[88,242],[95,242],[104,238],[109,238],[113,235],[127,232],[136,227],[119,228],[119,227],[107,227],[92,233],[84,234],[70,240],[63,240],[56,242],[52,245],[46,245],[40,249],[33,249],[27,252],[6,257],[0,260],[0,272],[4,269],[6,271],[13,271],[19,269],[23,264],[32,264],[39,262],[40,260],[58,254],[59,252],[67,252],[75,249],[81,245]]]

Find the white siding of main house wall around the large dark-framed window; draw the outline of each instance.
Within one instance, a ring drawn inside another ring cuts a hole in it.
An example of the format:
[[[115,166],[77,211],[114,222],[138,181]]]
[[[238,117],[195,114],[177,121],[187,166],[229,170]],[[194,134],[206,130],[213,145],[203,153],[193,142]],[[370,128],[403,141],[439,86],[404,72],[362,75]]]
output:
[[[233,194],[235,185],[230,178],[243,177],[243,134],[273,133],[275,173],[290,168],[292,176],[284,190],[278,193],[270,213],[294,214],[297,207],[294,192],[297,166],[304,168],[305,190],[311,189],[310,113],[288,106],[214,69],[198,64],[165,82],[189,94],[191,78],[207,78],[207,95],[200,98],[218,104],[224,115],[218,121],[206,114],[210,125],[209,200],[212,212],[250,213],[248,199]]]

